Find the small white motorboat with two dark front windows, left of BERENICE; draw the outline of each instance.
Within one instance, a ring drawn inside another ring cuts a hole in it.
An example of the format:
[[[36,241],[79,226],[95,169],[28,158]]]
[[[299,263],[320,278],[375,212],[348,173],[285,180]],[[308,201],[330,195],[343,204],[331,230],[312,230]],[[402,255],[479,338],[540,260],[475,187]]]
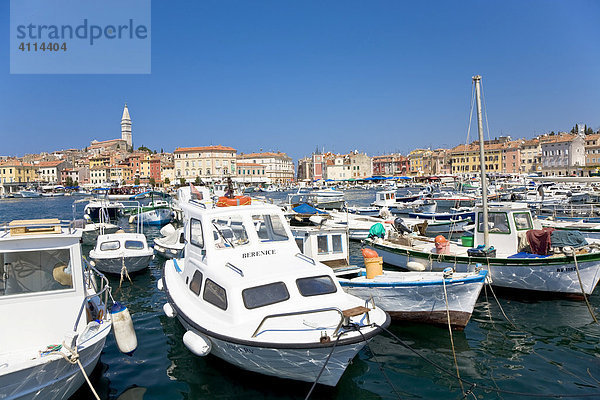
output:
[[[109,274],[131,274],[148,268],[153,255],[143,233],[123,231],[99,235],[96,247],[90,250],[92,265]]]

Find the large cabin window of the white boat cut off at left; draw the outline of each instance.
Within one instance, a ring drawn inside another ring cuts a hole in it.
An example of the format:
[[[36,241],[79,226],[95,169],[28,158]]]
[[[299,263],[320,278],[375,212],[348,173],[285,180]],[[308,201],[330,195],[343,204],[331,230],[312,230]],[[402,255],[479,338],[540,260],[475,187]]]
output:
[[[0,295],[73,287],[69,249],[0,253]]]

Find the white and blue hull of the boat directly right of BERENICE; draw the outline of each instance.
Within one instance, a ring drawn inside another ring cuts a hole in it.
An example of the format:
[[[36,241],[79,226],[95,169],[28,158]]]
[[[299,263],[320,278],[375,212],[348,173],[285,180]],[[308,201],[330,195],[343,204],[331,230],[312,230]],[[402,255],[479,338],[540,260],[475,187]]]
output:
[[[486,276],[487,271],[481,269],[460,273],[447,268],[443,272],[383,271],[369,279],[362,268],[359,276],[338,281],[350,294],[373,298],[394,320],[450,323],[460,330],[471,318]]]

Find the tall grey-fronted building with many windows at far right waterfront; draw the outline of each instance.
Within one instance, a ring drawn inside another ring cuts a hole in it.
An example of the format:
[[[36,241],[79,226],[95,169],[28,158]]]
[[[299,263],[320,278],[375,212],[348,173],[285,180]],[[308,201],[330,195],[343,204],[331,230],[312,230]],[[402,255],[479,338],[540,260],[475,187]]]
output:
[[[540,137],[544,176],[583,176],[585,135],[566,134]]]

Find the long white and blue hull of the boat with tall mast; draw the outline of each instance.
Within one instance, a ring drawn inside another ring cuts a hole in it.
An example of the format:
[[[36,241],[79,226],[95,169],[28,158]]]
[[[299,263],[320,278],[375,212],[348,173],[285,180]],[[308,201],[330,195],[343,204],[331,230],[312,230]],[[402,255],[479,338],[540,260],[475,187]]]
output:
[[[489,279],[494,286],[583,298],[573,257],[488,259],[439,255],[372,241],[368,242],[368,246],[375,249],[386,264],[399,268],[406,268],[409,261],[416,261],[428,271],[442,271],[453,267],[457,272],[467,272],[476,264],[481,264],[488,270]],[[600,280],[600,254],[580,255],[577,260],[583,291],[590,295]]]

